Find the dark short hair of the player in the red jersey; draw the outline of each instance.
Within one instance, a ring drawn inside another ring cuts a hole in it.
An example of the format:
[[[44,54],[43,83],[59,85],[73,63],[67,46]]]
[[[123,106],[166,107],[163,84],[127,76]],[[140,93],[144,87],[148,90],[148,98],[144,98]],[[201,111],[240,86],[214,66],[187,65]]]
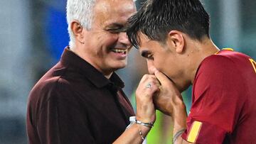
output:
[[[199,0],[147,0],[139,11],[129,18],[127,35],[135,48],[140,45],[140,32],[150,40],[162,43],[172,30],[201,40],[205,35],[210,38],[209,21],[209,15]]]

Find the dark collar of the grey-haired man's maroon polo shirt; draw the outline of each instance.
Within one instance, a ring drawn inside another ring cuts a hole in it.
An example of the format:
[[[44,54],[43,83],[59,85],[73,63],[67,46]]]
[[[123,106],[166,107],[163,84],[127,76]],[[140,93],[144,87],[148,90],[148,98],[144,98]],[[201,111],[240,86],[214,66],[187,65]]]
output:
[[[110,79],[107,79],[107,77],[105,77],[95,67],[90,65],[90,63],[83,60],[81,57],[69,50],[68,47],[66,47],[63,51],[60,62],[63,63],[65,67],[74,67],[75,70],[82,72],[82,74],[98,88],[110,86],[113,84],[117,87],[124,87],[124,82],[122,82],[122,80],[115,72],[113,72]]]

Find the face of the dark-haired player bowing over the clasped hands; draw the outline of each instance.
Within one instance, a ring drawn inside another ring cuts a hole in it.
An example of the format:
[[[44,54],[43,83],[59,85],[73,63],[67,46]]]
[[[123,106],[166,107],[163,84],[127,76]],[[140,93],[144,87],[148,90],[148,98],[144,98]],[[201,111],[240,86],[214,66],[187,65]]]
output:
[[[176,48],[170,43],[159,43],[149,40],[144,34],[139,34],[139,52],[146,58],[149,74],[159,70],[171,79],[180,92],[188,88],[189,82],[186,79],[186,64],[183,54],[176,52]]]

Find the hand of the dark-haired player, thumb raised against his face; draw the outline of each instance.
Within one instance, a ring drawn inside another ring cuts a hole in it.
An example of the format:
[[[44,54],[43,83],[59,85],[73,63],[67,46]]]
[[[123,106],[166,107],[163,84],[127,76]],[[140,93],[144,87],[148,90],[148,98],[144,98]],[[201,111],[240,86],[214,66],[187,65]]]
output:
[[[156,109],[163,113],[173,116],[174,112],[186,113],[186,106],[183,103],[181,93],[176,88],[174,82],[166,77],[163,73],[155,71],[155,76],[161,83],[160,91],[154,95],[154,104]]]

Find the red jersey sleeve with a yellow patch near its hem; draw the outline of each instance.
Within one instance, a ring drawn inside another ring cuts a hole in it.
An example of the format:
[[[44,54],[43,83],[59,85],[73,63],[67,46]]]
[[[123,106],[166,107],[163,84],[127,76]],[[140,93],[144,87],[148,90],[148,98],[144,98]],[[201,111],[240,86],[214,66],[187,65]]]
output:
[[[214,55],[204,60],[193,84],[193,103],[182,138],[190,143],[223,143],[245,104],[243,80],[235,63]]]

